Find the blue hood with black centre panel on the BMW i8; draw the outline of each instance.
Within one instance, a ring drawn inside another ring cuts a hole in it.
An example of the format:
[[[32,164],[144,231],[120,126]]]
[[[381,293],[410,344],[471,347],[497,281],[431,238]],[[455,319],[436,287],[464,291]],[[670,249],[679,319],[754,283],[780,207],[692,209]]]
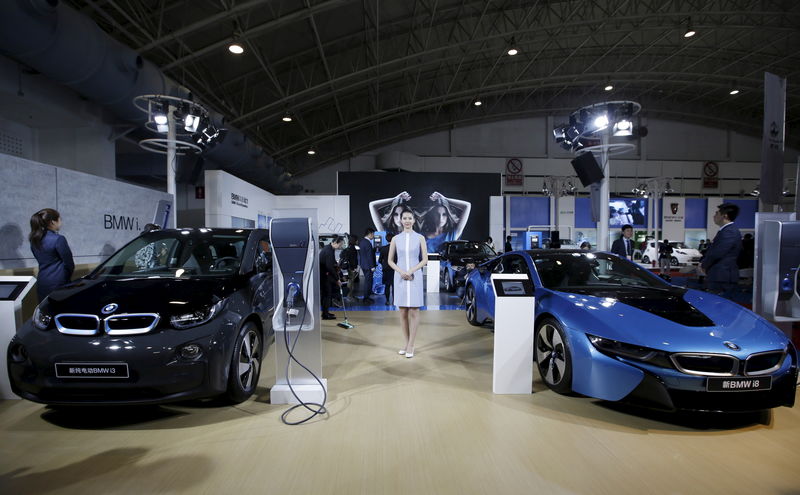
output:
[[[567,320],[573,330],[667,352],[732,353],[784,348],[788,339],[773,325],[727,299],[675,288],[553,292],[578,309]]]

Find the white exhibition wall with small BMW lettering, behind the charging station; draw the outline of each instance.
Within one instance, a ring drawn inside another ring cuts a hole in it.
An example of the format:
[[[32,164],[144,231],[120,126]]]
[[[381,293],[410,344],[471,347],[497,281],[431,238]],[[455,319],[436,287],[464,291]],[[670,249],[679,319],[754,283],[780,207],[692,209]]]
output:
[[[320,234],[350,229],[346,196],[277,196],[222,170],[205,171],[205,226],[267,228],[274,210],[314,208]]]

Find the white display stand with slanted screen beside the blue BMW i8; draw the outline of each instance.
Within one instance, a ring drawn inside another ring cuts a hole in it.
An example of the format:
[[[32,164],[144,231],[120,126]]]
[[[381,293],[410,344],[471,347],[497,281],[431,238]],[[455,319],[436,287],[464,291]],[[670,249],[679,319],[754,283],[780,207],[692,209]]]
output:
[[[533,323],[536,309],[528,275],[492,275],[494,290],[494,360],[492,392],[533,392]]]

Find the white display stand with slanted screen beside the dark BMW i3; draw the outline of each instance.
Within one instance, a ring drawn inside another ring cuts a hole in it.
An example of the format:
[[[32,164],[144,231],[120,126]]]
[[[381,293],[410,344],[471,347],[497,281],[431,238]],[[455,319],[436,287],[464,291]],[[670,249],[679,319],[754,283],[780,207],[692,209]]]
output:
[[[3,353],[2,366],[0,366],[0,397],[3,399],[19,399],[11,391],[11,382],[8,379],[8,363],[6,363],[8,344],[17,329],[22,327],[22,302],[30,294],[36,279],[34,277],[9,276],[0,277],[0,350]]]

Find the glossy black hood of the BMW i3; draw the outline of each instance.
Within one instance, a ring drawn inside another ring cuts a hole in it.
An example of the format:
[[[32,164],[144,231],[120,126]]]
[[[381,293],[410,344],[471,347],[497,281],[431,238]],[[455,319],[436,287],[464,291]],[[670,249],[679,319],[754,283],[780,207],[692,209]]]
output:
[[[116,313],[183,314],[230,295],[233,282],[231,278],[81,279],[51,293],[48,311],[102,317],[102,308],[113,303],[118,305]]]

